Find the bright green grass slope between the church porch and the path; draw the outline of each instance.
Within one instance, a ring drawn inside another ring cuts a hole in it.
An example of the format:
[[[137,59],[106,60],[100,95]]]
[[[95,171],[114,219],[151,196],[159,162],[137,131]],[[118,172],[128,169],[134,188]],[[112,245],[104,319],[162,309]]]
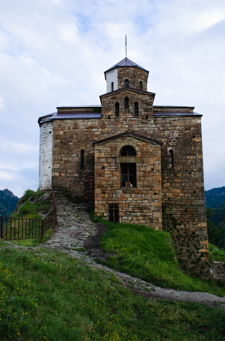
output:
[[[136,224],[102,221],[109,231],[99,246],[111,256],[102,264],[159,286],[208,292],[220,297],[225,286],[188,276],[178,269],[169,233]]]

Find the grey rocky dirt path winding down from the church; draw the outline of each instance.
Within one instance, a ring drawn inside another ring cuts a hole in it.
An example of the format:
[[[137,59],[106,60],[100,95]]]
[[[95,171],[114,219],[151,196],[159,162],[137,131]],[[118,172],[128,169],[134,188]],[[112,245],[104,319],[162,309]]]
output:
[[[107,231],[106,227],[102,224],[94,224],[90,220],[86,212],[88,204],[74,204],[58,192],[55,193],[55,199],[57,203],[58,224],[53,236],[48,241],[33,248],[33,250],[46,248],[60,251],[77,258],[82,263],[88,263],[89,266],[102,270],[103,276],[110,277],[114,273],[121,284],[131,288],[135,295],[141,295],[146,298],[198,302],[211,307],[220,305],[225,308],[225,298],[208,293],[160,288],[138,278],[131,277],[126,273],[121,273],[96,263],[95,259],[97,257],[104,259],[108,256],[108,254],[98,248],[98,239]],[[10,242],[7,243],[11,247],[18,247]],[[84,247],[88,251],[85,251]]]

